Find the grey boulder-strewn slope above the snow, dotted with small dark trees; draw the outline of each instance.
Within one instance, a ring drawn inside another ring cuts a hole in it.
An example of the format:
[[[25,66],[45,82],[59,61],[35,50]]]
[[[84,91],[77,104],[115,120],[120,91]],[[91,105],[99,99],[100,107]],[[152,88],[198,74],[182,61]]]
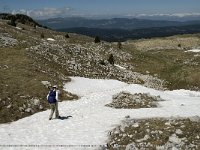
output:
[[[62,35],[54,36],[53,39],[55,39],[53,42],[44,39],[40,44],[26,50],[31,52],[33,57],[37,54],[49,62],[56,62],[70,75],[118,79],[127,83],[138,83],[155,89],[164,89],[163,80],[131,71],[132,66],[124,62],[124,60],[130,60],[131,55],[112,48],[109,43],[96,44],[92,41],[74,44],[67,41]],[[113,54],[115,63],[125,69],[109,64],[107,61],[109,54]]]

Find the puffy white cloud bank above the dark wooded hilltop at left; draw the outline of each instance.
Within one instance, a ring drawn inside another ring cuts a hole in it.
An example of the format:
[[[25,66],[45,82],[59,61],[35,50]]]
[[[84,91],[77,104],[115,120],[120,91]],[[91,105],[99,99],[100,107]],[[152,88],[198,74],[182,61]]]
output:
[[[35,10],[13,10],[12,14],[25,14],[33,18],[44,19],[44,18],[52,18],[52,17],[64,17],[70,14],[70,7],[62,7],[62,8],[42,8]]]

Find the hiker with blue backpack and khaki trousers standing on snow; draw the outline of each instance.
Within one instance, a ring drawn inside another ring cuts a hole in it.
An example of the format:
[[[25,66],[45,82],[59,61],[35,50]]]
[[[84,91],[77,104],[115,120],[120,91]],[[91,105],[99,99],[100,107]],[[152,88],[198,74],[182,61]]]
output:
[[[58,90],[57,86],[54,85],[47,95],[47,100],[51,108],[51,113],[49,116],[49,120],[52,119],[53,113],[55,112],[55,118],[59,119],[59,112],[58,112]]]

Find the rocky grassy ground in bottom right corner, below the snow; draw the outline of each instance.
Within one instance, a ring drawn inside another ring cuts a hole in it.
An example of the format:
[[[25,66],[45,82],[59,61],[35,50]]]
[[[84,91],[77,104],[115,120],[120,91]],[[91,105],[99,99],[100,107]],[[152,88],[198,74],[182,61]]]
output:
[[[200,118],[126,120],[110,132],[109,149],[200,149]]]

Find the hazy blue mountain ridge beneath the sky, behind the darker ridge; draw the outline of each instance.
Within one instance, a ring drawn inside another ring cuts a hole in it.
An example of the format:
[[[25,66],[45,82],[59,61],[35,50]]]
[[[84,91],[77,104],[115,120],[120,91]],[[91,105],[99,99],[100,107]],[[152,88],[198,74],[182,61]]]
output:
[[[77,27],[100,29],[142,29],[152,27],[185,26],[200,24],[200,20],[179,22],[137,18],[88,19],[81,17],[52,18],[47,20],[37,20],[37,22],[52,29]]]

